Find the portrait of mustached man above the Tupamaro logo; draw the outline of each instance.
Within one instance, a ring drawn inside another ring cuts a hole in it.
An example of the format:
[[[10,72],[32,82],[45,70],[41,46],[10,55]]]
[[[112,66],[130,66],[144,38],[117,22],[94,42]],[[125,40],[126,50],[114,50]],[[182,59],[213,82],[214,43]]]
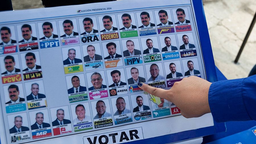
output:
[[[21,32],[22,32],[22,37],[24,39],[19,41],[19,43],[28,42],[28,41],[36,41],[37,40],[36,37],[31,36],[32,35],[32,28],[29,24],[24,24],[23,26],[21,26]]]

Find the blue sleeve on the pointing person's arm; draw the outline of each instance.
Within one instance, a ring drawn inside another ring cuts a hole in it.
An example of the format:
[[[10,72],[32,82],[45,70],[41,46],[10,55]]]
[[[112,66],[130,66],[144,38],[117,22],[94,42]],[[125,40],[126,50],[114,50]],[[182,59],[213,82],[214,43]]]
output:
[[[256,120],[256,75],[212,83],[208,101],[216,122]]]

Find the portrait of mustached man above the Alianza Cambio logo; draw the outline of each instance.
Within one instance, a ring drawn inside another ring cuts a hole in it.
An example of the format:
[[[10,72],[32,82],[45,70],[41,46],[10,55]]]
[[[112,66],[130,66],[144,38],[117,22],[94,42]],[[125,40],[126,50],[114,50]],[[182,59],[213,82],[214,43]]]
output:
[[[18,103],[18,102],[25,101],[24,98],[19,97],[20,91],[17,85],[10,85],[8,87],[8,92],[9,92],[9,98],[11,99],[11,101],[8,101],[5,104]]]

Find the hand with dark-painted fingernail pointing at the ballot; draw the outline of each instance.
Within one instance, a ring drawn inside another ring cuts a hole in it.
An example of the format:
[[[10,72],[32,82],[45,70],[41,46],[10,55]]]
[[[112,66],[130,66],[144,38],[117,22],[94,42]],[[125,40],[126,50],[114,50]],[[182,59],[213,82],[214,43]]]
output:
[[[185,118],[199,117],[210,112],[208,91],[211,83],[197,76],[175,82],[171,89],[161,89],[144,83],[138,84],[144,91],[166,99],[181,110]]]

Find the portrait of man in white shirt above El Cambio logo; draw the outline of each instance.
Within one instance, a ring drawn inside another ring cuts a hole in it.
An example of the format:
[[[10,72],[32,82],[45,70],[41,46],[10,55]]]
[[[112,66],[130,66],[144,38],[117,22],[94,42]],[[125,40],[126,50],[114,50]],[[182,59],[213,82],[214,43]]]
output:
[[[78,122],[85,122],[85,121],[91,121],[91,117],[85,115],[86,111],[84,108],[84,105],[78,104],[76,106],[76,115],[77,117],[73,120],[74,124],[77,124]],[[90,111],[89,111],[90,113]]]

